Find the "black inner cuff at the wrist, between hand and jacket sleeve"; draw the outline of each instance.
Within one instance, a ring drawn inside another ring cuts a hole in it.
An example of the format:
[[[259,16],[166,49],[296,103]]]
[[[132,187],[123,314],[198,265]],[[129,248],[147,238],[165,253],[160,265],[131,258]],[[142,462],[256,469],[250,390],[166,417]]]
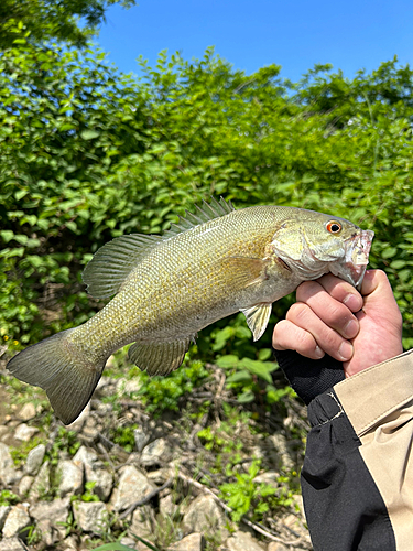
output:
[[[309,359],[295,350],[274,353],[290,385],[307,406],[316,396],[345,379],[343,364],[327,354],[322,359]]]

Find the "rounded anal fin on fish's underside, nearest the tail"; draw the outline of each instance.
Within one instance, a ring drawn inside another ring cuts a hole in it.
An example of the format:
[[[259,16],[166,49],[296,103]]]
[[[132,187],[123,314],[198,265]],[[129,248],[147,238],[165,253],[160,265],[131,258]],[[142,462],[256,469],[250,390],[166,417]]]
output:
[[[191,341],[195,335],[189,335],[172,343],[134,343],[129,348],[128,357],[142,371],[149,375],[167,375],[177,369],[184,361]]]

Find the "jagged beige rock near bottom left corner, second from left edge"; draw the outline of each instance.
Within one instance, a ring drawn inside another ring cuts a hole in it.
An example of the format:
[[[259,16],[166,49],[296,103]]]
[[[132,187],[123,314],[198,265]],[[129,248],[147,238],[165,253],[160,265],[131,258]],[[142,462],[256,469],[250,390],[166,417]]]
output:
[[[63,526],[67,522],[70,508],[70,498],[39,501],[30,507],[30,516],[36,520],[36,528],[42,532],[42,542],[54,545],[66,534]]]

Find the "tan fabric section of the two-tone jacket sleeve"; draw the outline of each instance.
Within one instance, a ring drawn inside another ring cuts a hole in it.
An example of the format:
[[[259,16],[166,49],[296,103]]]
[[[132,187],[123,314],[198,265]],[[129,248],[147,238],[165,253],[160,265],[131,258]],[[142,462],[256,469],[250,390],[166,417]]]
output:
[[[396,549],[413,549],[413,350],[334,387],[387,507]]]

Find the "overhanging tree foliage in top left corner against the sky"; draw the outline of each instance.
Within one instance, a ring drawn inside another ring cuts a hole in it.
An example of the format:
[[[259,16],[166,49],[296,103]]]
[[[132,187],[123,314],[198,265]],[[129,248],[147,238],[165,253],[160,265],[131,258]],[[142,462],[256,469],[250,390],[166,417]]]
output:
[[[64,41],[77,47],[85,46],[105,22],[109,6],[134,6],[134,0],[2,0],[0,3],[0,50],[20,40],[21,30],[31,41],[44,44],[50,40]],[[80,21],[83,26],[80,26]]]

